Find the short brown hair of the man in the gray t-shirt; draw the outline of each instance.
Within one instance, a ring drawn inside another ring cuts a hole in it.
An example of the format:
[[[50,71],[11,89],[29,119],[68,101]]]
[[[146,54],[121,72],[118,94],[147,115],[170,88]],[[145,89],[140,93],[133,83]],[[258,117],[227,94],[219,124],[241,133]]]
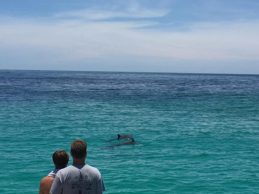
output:
[[[75,159],[82,159],[85,157],[87,144],[83,139],[77,139],[71,143],[71,155]]]

